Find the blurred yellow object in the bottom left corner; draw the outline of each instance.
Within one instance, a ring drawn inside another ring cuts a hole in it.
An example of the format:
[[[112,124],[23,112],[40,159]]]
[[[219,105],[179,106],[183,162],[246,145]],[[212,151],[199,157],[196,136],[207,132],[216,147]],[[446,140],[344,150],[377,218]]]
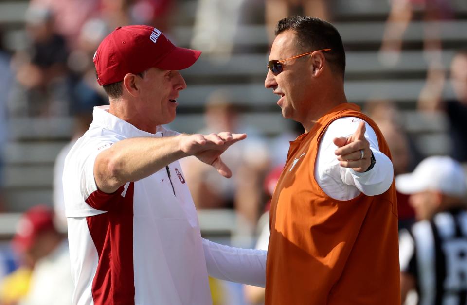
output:
[[[0,282],[0,301],[8,304],[23,299],[29,290],[32,270],[20,267]]]

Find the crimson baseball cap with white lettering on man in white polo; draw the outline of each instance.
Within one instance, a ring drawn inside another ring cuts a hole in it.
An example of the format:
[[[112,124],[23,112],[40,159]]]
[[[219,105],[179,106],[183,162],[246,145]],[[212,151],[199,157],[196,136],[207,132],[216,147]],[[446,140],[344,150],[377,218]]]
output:
[[[201,51],[176,47],[161,31],[147,25],[116,28],[94,54],[97,82],[108,85],[123,80],[127,73],[148,68],[182,70],[193,65]]]

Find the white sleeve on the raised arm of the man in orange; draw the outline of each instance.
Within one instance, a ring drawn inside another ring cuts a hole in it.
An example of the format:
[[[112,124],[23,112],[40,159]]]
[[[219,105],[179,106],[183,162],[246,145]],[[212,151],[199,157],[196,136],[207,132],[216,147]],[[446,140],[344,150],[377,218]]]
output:
[[[322,175],[329,175],[334,181],[355,186],[367,196],[375,196],[389,189],[394,179],[394,169],[389,157],[379,151],[378,139],[373,128],[365,122],[365,138],[370,143],[370,150],[376,159],[373,169],[367,172],[357,172],[350,168],[341,167],[334,154],[337,146],[333,143],[333,139],[351,136],[361,121],[362,119],[359,118],[347,117],[337,119],[329,125],[320,143],[317,168],[322,172]]]

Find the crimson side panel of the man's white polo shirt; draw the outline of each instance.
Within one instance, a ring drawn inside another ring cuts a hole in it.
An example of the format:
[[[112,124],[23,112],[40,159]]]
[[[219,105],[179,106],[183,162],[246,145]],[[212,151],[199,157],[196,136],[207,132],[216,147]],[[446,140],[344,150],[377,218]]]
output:
[[[133,182],[121,196],[123,186],[112,194],[96,190],[86,200],[107,213],[86,217],[99,255],[92,281],[94,305],[134,305]],[[105,207],[105,209],[104,209]]]

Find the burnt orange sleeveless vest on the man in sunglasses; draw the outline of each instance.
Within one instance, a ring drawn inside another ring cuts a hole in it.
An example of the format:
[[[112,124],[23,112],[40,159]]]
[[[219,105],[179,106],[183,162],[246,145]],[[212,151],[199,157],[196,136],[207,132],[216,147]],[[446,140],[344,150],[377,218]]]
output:
[[[266,305],[400,304],[394,181],[381,195],[340,201],[314,176],[321,137],[342,117],[368,122],[391,158],[376,123],[359,109],[341,104],[290,142],[271,202]]]

